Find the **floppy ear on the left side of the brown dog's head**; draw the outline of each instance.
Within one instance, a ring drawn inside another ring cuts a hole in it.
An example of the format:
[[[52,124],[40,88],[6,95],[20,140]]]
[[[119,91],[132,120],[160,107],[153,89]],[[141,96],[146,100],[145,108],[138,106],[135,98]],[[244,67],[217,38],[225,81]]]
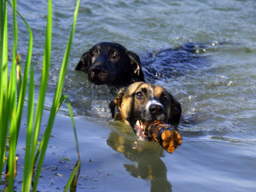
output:
[[[122,120],[121,114],[117,113],[117,115],[114,116],[114,112],[115,112],[115,106],[117,108],[119,108],[119,106],[122,102],[122,98],[125,94],[125,90],[126,90],[125,88],[120,89],[118,95],[113,99],[113,101],[111,101],[109,103],[109,108],[110,108],[110,111],[111,111],[111,114],[112,114],[112,118],[114,120]]]

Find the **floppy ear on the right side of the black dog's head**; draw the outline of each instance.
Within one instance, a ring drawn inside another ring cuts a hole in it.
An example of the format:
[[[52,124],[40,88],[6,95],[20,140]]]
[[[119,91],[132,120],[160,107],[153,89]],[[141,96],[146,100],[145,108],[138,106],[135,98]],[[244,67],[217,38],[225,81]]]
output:
[[[131,61],[131,67],[133,69],[132,77],[134,78],[134,80],[145,81],[139,56],[130,50],[126,50],[126,54],[129,56]]]

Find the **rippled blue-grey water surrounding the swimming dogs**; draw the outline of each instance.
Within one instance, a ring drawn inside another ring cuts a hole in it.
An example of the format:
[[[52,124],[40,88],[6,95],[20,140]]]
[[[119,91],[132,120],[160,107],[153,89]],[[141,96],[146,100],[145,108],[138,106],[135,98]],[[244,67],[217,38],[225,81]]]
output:
[[[50,108],[54,95],[74,6],[70,0],[54,1],[52,66],[46,110]],[[20,1],[18,9],[32,27],[32,64],[37,74],[38,90],[47,3]],[[255,1],[238,0],[80,3],[64,85],[79,132],[82,155],[79,191],[256,189],[255,9]],[[19,27],[19,51],[25,61],[28,35],[21,22]],[[138,142],[131,128],[113,123],[108,102],[117,89],[91,84],[87,74],[74,71],[84,51],[101,41],[123,44],[140,55],[143,61],[147,61],[148,53],[162,49],[187,43],[207,44],[206,49],[198,54],[198,59],[185,61],[185,66],[181,65],[183,62],[177,62],[177,67],[175,62],[172,63],[181,75],[171,79],[148,78],[149,82],[172,92],[182,104],[183,121],[179,131],[183,135],[183,144],[174,154],[167,154],[157,144]],[[51,157],[53,160],[46,159],[46,165],[58,162],[62,151],[74,162],[76,160],[73,139],[70,138],[71,127],[66,127],[69,121],[63,116],[66,113],[67,109],[61,108],[61,115],[56,119],[52,146],[59,149]],[[142,146],[143,151],[132,148],[135,142]],[[68,172],[65,169],[61,172],[66,174],[62,176],[63,182]],[[41,190],[62,190],[65,182],[60,183],[60,178],[54,177],[54,173],[43,172],[46,179],[42,179]]]

